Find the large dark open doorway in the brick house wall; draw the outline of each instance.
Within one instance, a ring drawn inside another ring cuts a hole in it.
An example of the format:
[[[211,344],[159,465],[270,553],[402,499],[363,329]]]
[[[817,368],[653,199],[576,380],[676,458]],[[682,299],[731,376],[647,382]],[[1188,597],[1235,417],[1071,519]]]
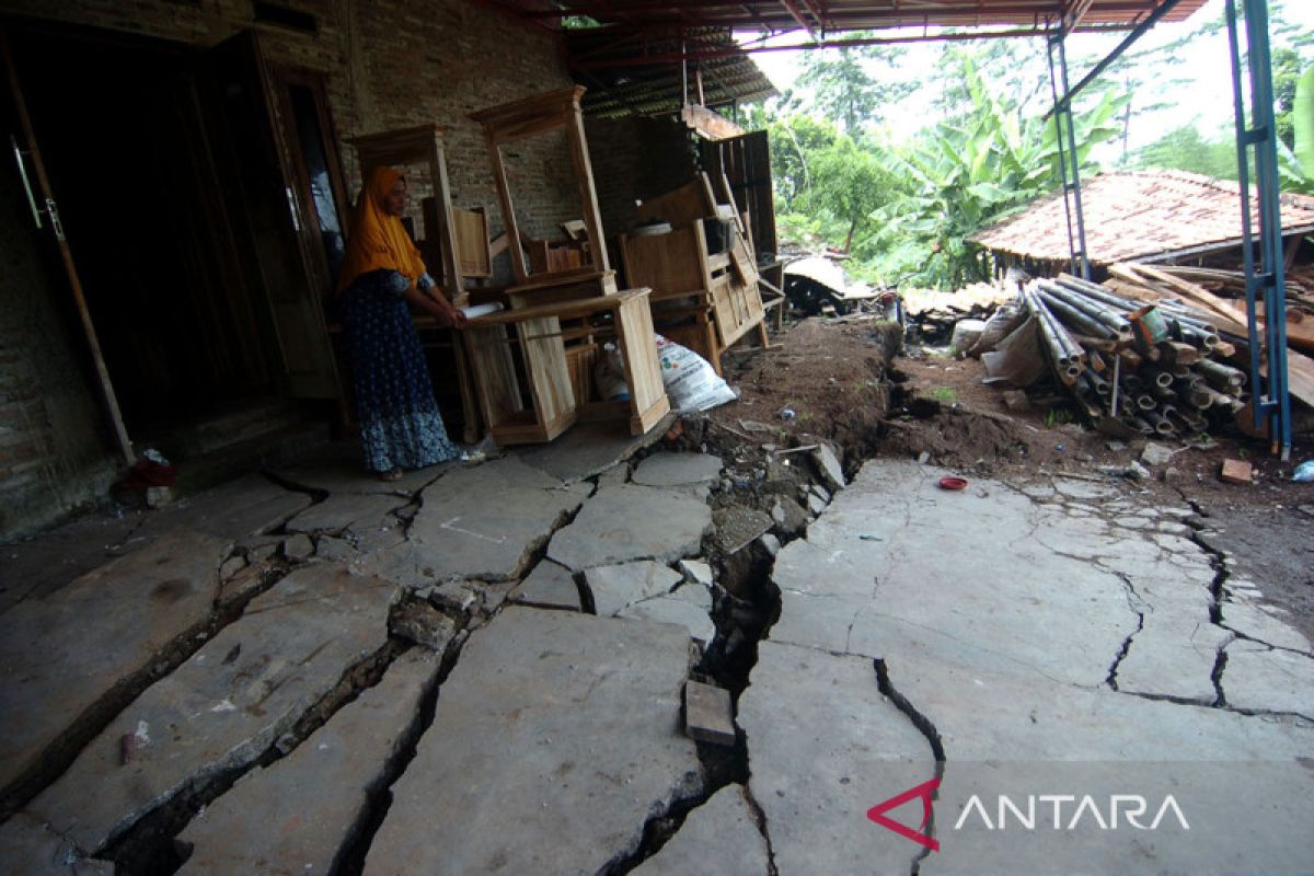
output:
[[[301,193],[254,35],[197,50],[5,30],[127,433],[335,397],[328,272],[307,261],[327,256],[298,239]]]

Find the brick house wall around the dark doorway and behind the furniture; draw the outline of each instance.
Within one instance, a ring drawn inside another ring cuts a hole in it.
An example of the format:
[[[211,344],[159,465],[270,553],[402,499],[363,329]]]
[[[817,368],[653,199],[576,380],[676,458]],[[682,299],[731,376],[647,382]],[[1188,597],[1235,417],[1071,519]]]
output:
[[[268,60],[325,74],[340,139],[424,122],[447,126],[455,200],[487,208],[493,231],[499,231],[482,129],[468,114],[572,84],[558,38],[468,0],[280,3],[314,16],[315,33],[255,24],[251,0],[0,0],[0,14],[197,47],[254,26]],[[343,165],[353,197],[359,175],[350,147]],[[562,169],[568,185],[531,173],[515,193],[532,229],[578,215],[569,164]],[[55,265],[39,257],[30,222],[21,222],[26,206],[16,200],[21,192],[12,164],[0,175],[0,540],[7,540],[104,496],[113,460],[81,362],[80,328],[60,314],[68,293]],[[424,188],[414,192],[417,215]]]

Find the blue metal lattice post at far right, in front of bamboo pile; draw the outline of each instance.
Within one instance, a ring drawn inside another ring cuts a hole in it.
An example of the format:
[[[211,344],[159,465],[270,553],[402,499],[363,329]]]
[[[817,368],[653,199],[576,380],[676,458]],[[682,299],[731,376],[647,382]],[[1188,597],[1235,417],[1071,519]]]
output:
[[[1282,221],[1277,175],[1277,127],[1273,116],[1273,67],[1268,46],[1268,0],[1240,0],[1246,13],[1246,63],[1250,84],[1247,123],[1242,88],[1243,59],[1236,0],[1227,0],[1227,35],[1231,45],[1233,95],[1236,113],[1236,171],[1240,183],[1242,252],[1246,263],[1246,323],[1250,334],[1250,385],[1255,428],[1269,427],[1273,452],[1292,454],[1292,403],[1286,374],[1286,284],[1282,276]],[[1250,179],[1254,151],[1259,194],[1259,236],[1251,218]],[[1259,248],[1259,259],[1255,248]],[[1260,338],[1257,303],[1265,317]],[[1261,369],[1268,365],[1268,380]],[[1263,393],[1260,391],[1263,386]]]

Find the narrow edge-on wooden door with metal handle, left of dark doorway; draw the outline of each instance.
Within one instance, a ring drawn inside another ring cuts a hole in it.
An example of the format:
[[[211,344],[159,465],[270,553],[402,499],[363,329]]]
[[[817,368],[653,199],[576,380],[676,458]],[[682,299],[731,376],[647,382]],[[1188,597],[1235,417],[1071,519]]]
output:
[[[0,104],[4,104],[4,112],[0,114],[0,118],[4,120],[4,126],[8,129],[5,133],[9,135],[5,146],[12,151],[17,172],[22,179],[22,186],[32,205],[33,223],[41,234],[49,235],[49,239],[59,253],[59,263],[68,278],[79,322],[81,323],[88,351],[96,368],[96,382],[113,433],[114,447],[122,461],[126,465],[133,465],[137,461],[133,452],[133,443],[127,437],[127,429],[124,426],[124,418],[118,408],[118,397],[114,393],[114,385],[109,380],[109,369],[105,366],[105,359],[101,355],[100,339],[96,336],[96,326],[92,323],[91,313],[87,309],[81,278],[59,219],[59,205],[55,202],[50,176],[46,173],[46,164],[37,144],[37,134],[28,114],[28,105],[24,100],[22,87],[18,83],[17,68],[9,54],[9,42],[4,28],[0,28],[0,66],[3,66],[5,77],[9,81],[9,95],[0,95]]]

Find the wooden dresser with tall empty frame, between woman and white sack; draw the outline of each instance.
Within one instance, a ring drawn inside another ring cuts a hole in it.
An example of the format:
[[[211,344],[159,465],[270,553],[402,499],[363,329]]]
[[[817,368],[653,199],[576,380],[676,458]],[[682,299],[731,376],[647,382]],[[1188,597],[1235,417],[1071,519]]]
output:
[[[473,319],[465,330],[480,410],[498,444],[551,441],[579,419],[624,418],[641,435],[670,410],[649,290],[619,292],[607,260],[579,112],[583,91],[564,88],[470,116],[484,126],[515,274],[506,289],[510,310]],[[553,131],[569,141],[583,218],[569,223],[576,243],[536,242],[527,255],[502,150]],[[598,341],[607,335],[624,359],[625,402],[590,401]]]

